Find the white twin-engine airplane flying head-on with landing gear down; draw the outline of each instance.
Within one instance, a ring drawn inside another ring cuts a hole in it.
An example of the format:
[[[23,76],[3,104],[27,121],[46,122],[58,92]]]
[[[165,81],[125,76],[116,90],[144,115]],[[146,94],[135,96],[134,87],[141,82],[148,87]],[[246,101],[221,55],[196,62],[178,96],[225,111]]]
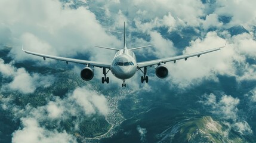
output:
[[[109,47],[105,47],[105,46],[96,46],[98,48],[104,48],[104,49],[110,49],[113,51],[117,51],[115,54],[115,57],[112,60],[112,63],[102,63],[102,62],[98,62],[98,61],[79,60],[79,59],[75,59],[75,58],[66,58],[66,57],[57,57],[54,55],[45,55],[45,54],[40,54],[37,52],[24,50],[23,46],[22,46],[22,51],[24,51],[27,54],[32,54],[32,55],[37,55],[39,57],[43,57],[44,60],[46,58],[51,58],[54,60],[66,61],[66,64],[68,64],[69,62],[84,64],[85,67],[84,67],[84,69],[81,70],[81,78],[85,81],[91,80],[94,77],[94,67],[99,67],[99,68],[103,69],[103,77],[101,78],[101,82],[109,83],[109,77],[107,77],[107,73],[109,73],[109,71],[111,71],[115,77],[122,80],[122,87],[126,87],[127,85],[125,83],[125,80],[134,76],[134,74],[138,70],[140,70],[144,74],[144,76],[141,76],[141,83],[149,82],[149,77],[147,76],[147,67],[152,67],[152,66],[157,66],[155,68],[156,76],[158,76],[160,79],[164,79],[165,77],[168,76],[168,69],[165,66],[165,64],[167,62],[173,61],[174,63],[176,63],[177,60],[184,59],[186,61],[187,58],[190,58],[190,57],[195,57],[195,56],[200,57],[200,55],[202,55],[202,54],[218,51],[221,48],[224,48],[226,46],[226,44],[225,44],[225,46],[221,46],[220,48],[208,49],[205,51],[195,52],[192,54],[177,55],[174,57],[160,58],[160,59],[156,59],[156,60],[137,62],[133,51],[136,49],[146,48],[149,46],[153,46],[153,45],[140,46],[137,48],[127,48],[126,34],[125,34],[125,23],[124,23],[124,47],[122,49],[109,48]]]

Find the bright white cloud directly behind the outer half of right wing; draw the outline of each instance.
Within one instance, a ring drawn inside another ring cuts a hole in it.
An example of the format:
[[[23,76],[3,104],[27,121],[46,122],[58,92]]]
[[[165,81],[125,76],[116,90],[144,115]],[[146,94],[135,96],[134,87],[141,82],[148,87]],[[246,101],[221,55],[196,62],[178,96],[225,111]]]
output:
[[[224,45],[224,39],[215,32],[209,32],[206,38],[191,41],[190,46],[184,49],[183,54],[204,51]],[[223,48],[209,54],[201,55],[200,58],[192,57],[187,61],[178,60],[177,63],[168,63],[170,84],[178,85],[179,88],[187,88],[202,83],[205,79],[218,81],[216,74],[233,74],[232,48]],[[218,57],[218,58],[217,58]]]

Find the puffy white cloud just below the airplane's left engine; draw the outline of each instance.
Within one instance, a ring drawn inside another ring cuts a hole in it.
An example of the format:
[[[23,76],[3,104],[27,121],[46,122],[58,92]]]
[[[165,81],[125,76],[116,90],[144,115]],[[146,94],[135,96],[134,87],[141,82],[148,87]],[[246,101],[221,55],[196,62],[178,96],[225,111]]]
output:
[[[94,114],[106,116],[111,111],[107,98],[87,86],[76,88],[63,99],[55,97],[54,101],[48,102],[44,108],[50,119],[58,120]]]

